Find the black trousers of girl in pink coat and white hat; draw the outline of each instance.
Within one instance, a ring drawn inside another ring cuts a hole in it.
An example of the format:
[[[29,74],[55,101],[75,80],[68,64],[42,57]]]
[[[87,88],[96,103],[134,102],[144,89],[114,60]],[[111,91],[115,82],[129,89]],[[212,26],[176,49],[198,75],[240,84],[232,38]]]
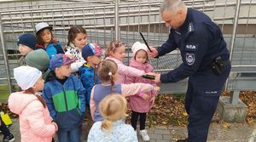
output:
[[[137,118],[140,117],[140,130],[145,129],[147,113],[140,113],[136,111],[131,112],[131,126],[134,130],[137,129]]]

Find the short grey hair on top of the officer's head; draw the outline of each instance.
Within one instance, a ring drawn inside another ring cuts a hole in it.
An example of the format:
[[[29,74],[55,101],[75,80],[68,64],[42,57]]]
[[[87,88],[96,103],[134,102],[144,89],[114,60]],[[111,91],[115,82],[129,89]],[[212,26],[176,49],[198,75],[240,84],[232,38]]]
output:
[[[177,9],[186,9],[186,5],[182,0],[165,0],[160,6],[160,14],[163,14],[165,10],[175,13]]]

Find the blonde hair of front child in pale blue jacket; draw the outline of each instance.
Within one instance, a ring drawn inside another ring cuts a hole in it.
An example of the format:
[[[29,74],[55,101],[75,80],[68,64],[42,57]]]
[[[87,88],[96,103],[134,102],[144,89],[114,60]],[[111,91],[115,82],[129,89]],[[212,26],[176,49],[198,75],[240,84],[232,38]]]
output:
[[[101,126],[102,130],[111,131],[113,122],[125,118],[127,100],[121,94],[107,95],[100,102],[99,110],[104,118]]]

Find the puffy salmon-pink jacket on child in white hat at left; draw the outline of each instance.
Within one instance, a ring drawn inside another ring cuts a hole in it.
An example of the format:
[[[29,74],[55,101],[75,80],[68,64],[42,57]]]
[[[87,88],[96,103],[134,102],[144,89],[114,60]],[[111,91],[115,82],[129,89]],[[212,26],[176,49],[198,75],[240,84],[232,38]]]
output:
[[[10,111],[19,115],[21,142],[51,142],[56,124],[34,94],[10,94],[8,103]]]

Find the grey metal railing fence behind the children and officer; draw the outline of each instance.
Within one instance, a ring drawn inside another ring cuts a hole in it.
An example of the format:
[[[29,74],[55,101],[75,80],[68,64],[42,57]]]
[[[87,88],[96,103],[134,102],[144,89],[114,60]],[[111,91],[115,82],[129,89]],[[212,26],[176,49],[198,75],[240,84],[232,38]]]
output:
[[[0,2],[0,84],[15,83],[13,68],[17,66],[19,52],[16,39],[24,32],[34,32],[39,22],[47,22],[54,27],[54,36],[62,45],[67,44],[70,26],[82,25],[89,35],[89,41],[102,48],[113,39],[125,43],[127,60],[131,57],[132,43],[142,41],[139,31],[150,45],[160,45],[166,41],[169,29],[160,20],[161,0],[58,0]],[[256,71],[255,0],[186,0],[190,8],[199,9],[215,20],[224,32],[224,39],[231,52],[232,71],[229,82],[245,72]],[[179,51],[165,58],[150,59],[156,71],[170,71],[181,63]],[[234,89],[232,84],[230,89]],[[253,87],[252,87],[253,88]],[[255,87],[256,88],[256,87]]]

